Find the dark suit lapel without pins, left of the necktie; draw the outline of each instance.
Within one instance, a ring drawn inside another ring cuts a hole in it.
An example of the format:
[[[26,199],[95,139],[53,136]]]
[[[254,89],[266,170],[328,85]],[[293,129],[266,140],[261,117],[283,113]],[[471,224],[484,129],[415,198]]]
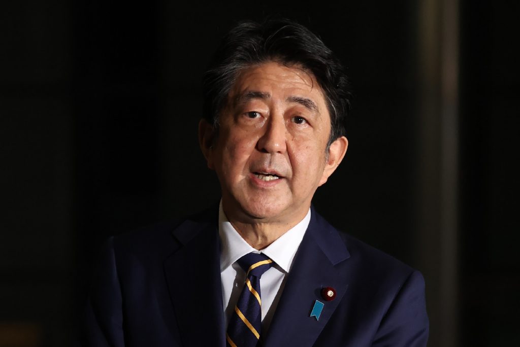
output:
[[[180,248],[164,261],[168,290],[184,346],[224,346],[217,213],[187,220],[173,236]]]

